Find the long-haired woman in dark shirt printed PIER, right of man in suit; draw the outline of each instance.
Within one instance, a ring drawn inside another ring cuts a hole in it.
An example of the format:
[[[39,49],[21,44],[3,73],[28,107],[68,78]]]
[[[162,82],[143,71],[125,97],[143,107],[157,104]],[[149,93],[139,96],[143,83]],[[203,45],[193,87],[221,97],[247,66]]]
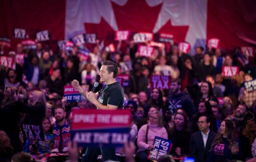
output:
[[[208,157],[208,162],[222,162],[242,158],[241,142],[235,136],[235,129],[231,120],[221,122],[220,130],[214,138]]]

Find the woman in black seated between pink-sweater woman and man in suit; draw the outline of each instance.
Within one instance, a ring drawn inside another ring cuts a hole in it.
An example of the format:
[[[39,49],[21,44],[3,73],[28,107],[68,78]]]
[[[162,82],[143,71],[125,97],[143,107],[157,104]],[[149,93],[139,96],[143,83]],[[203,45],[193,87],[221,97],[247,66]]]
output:
[[[168,130],[168,139],[173,143],[170,154],[175,156],[188,155],[190,137],[191,132],[187,126],[185,112],[177,112],[174,117],[174,125]]]

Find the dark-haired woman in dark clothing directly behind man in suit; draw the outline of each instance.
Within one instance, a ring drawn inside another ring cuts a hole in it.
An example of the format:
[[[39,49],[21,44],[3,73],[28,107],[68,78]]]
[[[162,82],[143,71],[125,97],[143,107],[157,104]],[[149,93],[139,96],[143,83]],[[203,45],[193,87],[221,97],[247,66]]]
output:
[[[197,132],[199,130],[197,121],[201,115],[208,116],[211,123],[211,125],[209,126],[210,130],[217,132],[217,123],[216,123],[216,118],[212,111],[212,106],[209,101],[202,99],[198,105],[198,112],[194,114],[191,119],[192,133]]]

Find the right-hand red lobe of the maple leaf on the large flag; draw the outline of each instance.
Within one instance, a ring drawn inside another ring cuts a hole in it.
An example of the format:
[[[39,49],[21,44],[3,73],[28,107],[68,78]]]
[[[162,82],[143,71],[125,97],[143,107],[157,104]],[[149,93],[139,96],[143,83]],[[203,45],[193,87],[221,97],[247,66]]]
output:
[[[189,26],[172,26],[171,20],[162,26],[157,33],[172,34],[175,42],[185,41]]]

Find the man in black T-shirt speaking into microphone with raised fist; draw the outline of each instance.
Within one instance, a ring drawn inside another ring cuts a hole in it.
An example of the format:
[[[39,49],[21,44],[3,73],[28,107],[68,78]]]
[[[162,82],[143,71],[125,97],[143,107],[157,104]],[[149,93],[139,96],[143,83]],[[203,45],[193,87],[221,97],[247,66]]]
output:
[[[106,85],[97,93],[87,92],[79,85],[77,80],[72,81],[72,86],[76,88],[87,100],[92,102],[98,109],[115,110],[124,108],[124,91],[119,82],[116,81],[118,69],[117,65],[111,61],[104,61],[100,68],[100,81]],[[98,98],[98,99],[97,99]],[[115,160],[114,148],[100,148],[103,161]],[[87,147],[82,161],[97,161],[98,148]]]

